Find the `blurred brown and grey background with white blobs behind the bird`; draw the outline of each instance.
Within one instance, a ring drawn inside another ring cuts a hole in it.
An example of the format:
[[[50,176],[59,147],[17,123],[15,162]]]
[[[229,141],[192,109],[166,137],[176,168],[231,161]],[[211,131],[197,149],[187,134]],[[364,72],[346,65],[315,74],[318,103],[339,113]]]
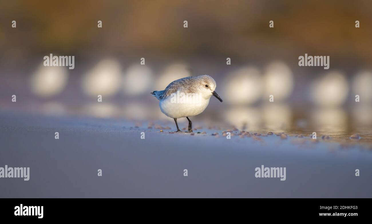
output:
[[[371,1],[0,1],[0,112],[171,126],[150,92],[208,74],[224,102],[211,98],[194,124],[371,136],[371,8]],[[43,66],[51,53],[75,56],[75,68]],[[298,66],[305,53],[330,56],[330,69]]]

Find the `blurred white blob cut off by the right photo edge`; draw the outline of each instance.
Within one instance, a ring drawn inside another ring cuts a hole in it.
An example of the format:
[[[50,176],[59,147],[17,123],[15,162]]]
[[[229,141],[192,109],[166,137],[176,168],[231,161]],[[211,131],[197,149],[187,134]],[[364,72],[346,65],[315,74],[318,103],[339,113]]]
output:
[[[353,93],[359,95],[360,103],[372,104],[372,72],[362,71],[353,79]]]

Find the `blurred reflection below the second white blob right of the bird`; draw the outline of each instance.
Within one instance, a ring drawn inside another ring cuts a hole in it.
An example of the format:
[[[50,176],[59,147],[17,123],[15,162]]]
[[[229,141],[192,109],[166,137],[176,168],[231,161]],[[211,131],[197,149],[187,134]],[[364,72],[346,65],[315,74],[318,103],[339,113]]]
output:
[[[291,127],[291,109],[286,104],[266,103],[263,106],[263,119],[271,132],[284,132]]]

